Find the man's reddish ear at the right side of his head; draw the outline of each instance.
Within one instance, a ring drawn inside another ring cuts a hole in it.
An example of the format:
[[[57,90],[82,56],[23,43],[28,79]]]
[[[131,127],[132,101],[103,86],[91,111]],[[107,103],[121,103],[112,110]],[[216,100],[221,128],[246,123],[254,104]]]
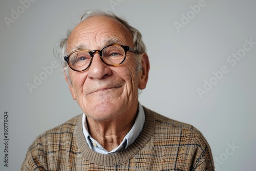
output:
[[[139,81],[139,89],[143,90],[146,88],[146,83],[148,80],[148,73],[150,72],[150,60],[148,59],[148,56],[146,53],[142,54],[141,59],[141,75],[140,75],[140,81]]]

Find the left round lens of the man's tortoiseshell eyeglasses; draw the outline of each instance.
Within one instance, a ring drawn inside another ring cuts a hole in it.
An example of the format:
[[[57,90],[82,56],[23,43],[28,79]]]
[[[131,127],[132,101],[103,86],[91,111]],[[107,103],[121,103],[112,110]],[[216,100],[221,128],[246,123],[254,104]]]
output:
[[[77,51],[70,55],[69,63],[75,70],[84,70],[90,65],[91,55],[87,51]]]

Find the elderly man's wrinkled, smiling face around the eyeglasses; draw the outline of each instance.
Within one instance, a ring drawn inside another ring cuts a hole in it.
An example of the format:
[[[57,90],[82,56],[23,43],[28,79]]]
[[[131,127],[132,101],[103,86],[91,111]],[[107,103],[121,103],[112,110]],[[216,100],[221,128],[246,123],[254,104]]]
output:
[[[111,41],[134,48],[132,40],[131,32],[117,20],[94,16],[72,31],[67,53],[81,47],[90,51],[100,50]],[[99,54],[94,54],[86,71],[76,72],[69,68],[71,94],[88,117],[107,121],[137,111],[138,88],[145,88],[147,73],[145,76],[143,70],[137,72],[135,57],[128,51],[122,65],[112,67],[105,65]]]

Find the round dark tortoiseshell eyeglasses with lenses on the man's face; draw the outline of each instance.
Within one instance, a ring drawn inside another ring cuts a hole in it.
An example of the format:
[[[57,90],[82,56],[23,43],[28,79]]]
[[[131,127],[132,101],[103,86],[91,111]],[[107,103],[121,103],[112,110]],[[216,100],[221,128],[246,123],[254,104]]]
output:
[[[101,50],[75,50],[65,56],[64,59],[72,70],[80,72],[90,67],[95,53],[99,54],[101,61],[105,65],[118,66],[125,60],[127,51],[138,54],[137,51],[129,46],[111,44],[104,46]]]

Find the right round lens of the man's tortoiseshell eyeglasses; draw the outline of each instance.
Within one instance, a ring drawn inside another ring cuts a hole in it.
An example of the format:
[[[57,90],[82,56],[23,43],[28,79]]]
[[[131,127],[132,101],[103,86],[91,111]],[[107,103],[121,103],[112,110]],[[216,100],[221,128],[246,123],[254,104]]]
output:
[[[125,52],[121,46],[109,46],[102,50],[103,60],[110,65],[120,64],[125,56]]]

